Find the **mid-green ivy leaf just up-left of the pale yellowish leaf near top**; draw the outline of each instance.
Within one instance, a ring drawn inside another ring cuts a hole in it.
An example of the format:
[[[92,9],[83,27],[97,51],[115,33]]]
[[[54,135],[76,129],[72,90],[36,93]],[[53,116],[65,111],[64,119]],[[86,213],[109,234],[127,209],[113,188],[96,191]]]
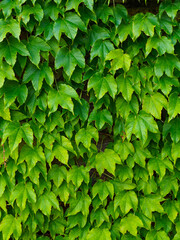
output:
[[[90,60],[92,61],[93,58],[98,56],[100,57],[101,61],[104,63],[106,55],[113,49],[114,49],[114,46],[109,40],[99,39],[92,46]]]

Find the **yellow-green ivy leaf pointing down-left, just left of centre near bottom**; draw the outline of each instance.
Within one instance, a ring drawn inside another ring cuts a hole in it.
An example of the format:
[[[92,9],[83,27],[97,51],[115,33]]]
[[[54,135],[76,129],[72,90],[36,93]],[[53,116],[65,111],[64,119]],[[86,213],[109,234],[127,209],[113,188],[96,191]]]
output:
[[[67,211],[67,217],[76,215],[77,213],[81,212],[84,216],[88,216],[89,214],[89,206],[91,204],[91,198],[87,194],[83,194],[78,192],[76,199],[69,199],[69,205]]]

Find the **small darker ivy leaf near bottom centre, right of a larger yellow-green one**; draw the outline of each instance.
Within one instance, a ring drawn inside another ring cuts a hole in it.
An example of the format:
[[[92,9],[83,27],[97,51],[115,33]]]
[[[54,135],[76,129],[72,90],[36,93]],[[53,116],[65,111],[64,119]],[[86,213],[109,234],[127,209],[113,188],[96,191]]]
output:
[[[90,215],[91,224],[96,221],[96,227],[100,227],[104,222],[109,222],[109,217],[104,208],[100,207],[97,210],[92,210]]]

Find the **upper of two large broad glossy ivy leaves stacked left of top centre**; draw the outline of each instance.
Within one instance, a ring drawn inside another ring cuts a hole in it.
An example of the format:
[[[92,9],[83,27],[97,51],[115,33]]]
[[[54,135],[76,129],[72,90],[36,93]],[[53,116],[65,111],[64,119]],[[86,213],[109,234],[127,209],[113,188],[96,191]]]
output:
[[[68,12],[65,14],[64,18],[59,18],[54,23],[53,32],[58,41],[62,33],[65,33],[68,38],[73,40],[76,37],[78,28],[81,31],[86,31],[86,26],[81,18],[76,13]]]

